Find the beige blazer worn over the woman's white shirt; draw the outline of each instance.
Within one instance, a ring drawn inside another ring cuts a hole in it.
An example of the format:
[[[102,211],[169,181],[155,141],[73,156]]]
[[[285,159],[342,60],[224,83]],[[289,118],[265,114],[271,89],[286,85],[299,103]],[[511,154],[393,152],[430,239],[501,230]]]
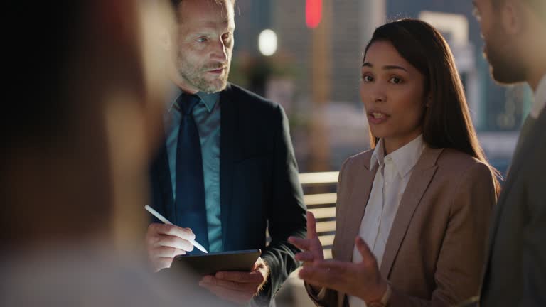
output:
[[[350,262],[377,167],[372,151],[341,167],[333,258]],[[390,306],[449,306],[478,295],[496,192],[491,170],[453,149],[424,149],[390,230],[380,271]],[[345,293],[309,296],[318,306],[347,306]]]

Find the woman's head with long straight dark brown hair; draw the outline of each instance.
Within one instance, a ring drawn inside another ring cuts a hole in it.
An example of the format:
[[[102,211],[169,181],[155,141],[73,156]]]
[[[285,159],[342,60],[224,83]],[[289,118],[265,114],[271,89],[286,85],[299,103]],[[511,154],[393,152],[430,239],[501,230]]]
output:
[[[370,142],[387,154],[423,134],[487,163],[449,45],[428,23],[402,19],[377,28],[365,48],[360,96]],[[494,170],[493,168],[491,168]]]

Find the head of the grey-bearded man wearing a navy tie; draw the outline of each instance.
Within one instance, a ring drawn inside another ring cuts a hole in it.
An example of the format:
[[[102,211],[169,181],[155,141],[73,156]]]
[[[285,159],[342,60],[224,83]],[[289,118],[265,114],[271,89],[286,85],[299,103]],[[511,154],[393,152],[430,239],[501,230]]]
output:
[[[166,46],[171,79],[186,92],[228,85],[235,31],[234,0],[172,0],[176,23]],[[173,65],[174,64],[174,65]]]

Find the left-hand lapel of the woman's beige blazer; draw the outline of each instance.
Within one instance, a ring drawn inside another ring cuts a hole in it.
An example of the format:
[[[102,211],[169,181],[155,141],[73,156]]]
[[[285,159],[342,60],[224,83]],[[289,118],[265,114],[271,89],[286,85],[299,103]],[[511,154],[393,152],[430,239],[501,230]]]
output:
[[[343,220],[338,221],[344,227],[341,237],[346,238],[343,240],[339,254],[336,255],[336,258],[341,261],[350,262],[353,259],[354,239],[358,235],[358,230],[360,230],[360,223],[364,217],[368,198],[370,198],[370,192],[372,191],[375,172],[378,171],[377,166],[370,170],[370,159],[367,160],[360,164],[353,185],[350,186],[350,196],[347,206],[349,210]]]

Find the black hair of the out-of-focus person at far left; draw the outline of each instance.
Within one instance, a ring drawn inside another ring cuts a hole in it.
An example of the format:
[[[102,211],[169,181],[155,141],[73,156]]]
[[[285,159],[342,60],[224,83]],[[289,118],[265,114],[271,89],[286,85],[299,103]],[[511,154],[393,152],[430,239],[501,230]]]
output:
[[[4,146],[44,144],[67,132],[66,63],[82,39],[90,1],[12,1],[4,45],[8,80],[1,128]]]

